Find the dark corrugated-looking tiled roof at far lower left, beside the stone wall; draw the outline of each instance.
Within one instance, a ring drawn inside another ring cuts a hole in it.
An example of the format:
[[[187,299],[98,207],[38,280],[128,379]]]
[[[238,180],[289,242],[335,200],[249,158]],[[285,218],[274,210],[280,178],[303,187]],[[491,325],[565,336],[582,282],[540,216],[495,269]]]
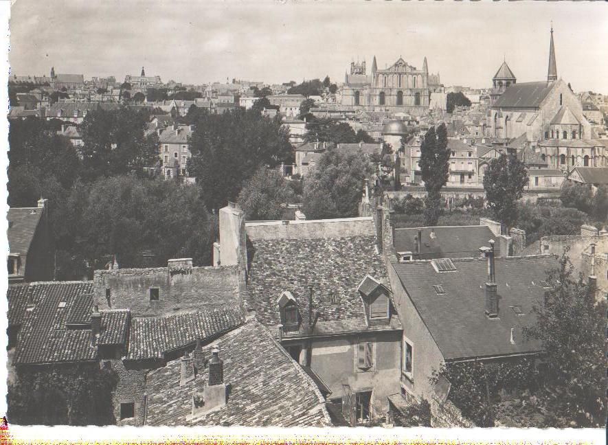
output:
[[[17,365],[97,359],[97,348],[91,347],[91,330],[69,329],[66,323],[77,301],[85,296],[93,300],[93,282],[38,282],[22,286],[30,288],[34,307],[25,310],[15,356]],[[128,310],[107,310],[101,314],[100,343],[124,343]]]

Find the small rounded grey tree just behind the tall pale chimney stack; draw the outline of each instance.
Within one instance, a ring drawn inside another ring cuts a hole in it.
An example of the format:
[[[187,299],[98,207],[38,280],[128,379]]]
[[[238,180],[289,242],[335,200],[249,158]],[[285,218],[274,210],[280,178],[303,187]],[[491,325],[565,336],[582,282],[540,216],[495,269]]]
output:
[[[238,203],[247,220],[278,220],[282,205],[295,198],[293,189],[276,169],[260,168],[238,194]]]

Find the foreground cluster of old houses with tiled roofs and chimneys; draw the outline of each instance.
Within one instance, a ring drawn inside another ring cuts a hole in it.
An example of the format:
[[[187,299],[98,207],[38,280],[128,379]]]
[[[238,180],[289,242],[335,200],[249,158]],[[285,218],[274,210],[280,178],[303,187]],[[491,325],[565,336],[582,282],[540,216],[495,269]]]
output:
[[[606,291],[605,231],[530,253],[491,221],[396,229],[391,215],[247,222],[230,204],[213,266],[12,284],[16,378],[105,363],[120,376],[117,424],[374,424],[425,397],[437,426],[458,412],[429,381],[442,363],[541,353],[521,329],[559,247],[580,244],[578,270]]]

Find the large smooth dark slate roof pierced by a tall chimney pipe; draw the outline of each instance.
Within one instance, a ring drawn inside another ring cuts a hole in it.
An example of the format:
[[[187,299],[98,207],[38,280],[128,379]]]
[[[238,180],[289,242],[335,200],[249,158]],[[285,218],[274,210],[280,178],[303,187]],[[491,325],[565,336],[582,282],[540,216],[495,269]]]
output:
[[[484,286],[487,261],[453,260],[456,271],[436,272],[431,262],[393,264],[418,314],[433,336],[446,360],[537,352],[538,341],[523,339],[521,328],[535,322],[532,306],[541,304],[547,279],[546,271],[555,269],[558,260],[550,255],[495,259],[499,297],[498,317],[489,319],[484,312]],[[433,285],[443,287],[437,295]],[[516,315],[510,306],[519,306]],[[510,330],[515,328],[515,344]]]

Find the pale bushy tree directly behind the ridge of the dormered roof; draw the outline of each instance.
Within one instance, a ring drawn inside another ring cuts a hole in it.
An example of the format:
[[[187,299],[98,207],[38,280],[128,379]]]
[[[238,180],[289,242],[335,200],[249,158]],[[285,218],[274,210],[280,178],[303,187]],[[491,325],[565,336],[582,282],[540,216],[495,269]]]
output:
[[[302,210],[309,219],[357,216],[372,166],[363,152],[330,149],[304,179]]]

